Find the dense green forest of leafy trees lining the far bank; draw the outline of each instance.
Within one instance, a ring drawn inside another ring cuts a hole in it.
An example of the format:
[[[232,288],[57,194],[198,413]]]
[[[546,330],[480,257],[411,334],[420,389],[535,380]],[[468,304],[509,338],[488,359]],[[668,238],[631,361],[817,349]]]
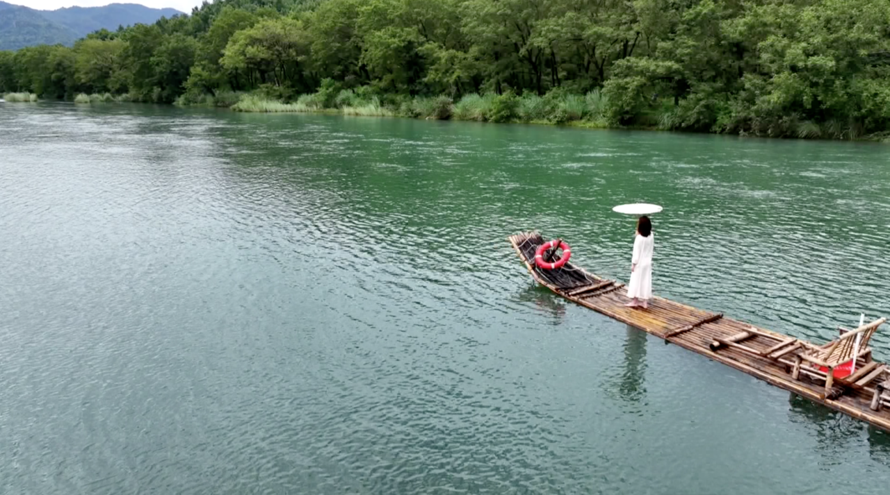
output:
[[[220,0],[0,52],[0,90],[854,139],[890,131],[890,3]]]

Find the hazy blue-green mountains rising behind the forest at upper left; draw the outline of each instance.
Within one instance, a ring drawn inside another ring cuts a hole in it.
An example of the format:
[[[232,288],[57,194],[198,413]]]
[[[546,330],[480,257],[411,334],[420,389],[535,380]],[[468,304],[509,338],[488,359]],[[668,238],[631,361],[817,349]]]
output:
[[[177,14],[182,12],[150,9],[140,4],[37,11],[0,1],[0,50],[18,50],[35,44],[73,44],[96,29],[113,31],[118,26],[151,24]]]

